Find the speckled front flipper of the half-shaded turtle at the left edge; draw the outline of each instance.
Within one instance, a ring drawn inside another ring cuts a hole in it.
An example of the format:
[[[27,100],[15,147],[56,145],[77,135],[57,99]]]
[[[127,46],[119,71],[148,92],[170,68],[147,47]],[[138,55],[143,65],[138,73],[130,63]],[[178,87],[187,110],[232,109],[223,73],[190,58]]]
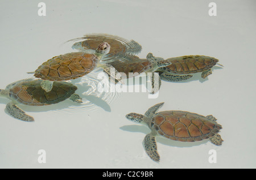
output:
[[[9,102],[6,105],[5,112],[11,117],[14,117],[16,119],[20,119],[22,121],[32,122],[34,121],[34,118],[32,118],[30,115],[27,115],[22,109],[18,108],[13,102]]]

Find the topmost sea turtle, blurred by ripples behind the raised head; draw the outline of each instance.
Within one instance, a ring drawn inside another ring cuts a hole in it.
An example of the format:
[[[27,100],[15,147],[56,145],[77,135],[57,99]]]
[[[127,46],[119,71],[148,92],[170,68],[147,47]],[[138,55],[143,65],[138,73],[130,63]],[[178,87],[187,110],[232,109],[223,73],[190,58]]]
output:
[[[110,52],[105,55],[103,61],[111,62],[113,57],[122,57],[123,55],[135,55],[141,52],[142,46],[134,40],[126,40],[125,38],[108,35],[106,33],[91,33],[84,35],[84,37],[75,38],[69,41],[77,41],[72,48],[79,51],[96,50],[98,44],[101,42],[108,42],[111,46]]]

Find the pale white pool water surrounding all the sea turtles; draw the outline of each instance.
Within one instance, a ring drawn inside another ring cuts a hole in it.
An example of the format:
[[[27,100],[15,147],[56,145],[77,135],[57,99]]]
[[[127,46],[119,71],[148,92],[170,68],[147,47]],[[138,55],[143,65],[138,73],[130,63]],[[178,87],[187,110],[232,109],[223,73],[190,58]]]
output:
[[[204,82],[163,82],[153,99],[121,93],[106,101],[82,96],[88,108],[71,101],[20,106],[34,123],[7,115],[9,100],[0,98],[0,168],[256,168],[255,1],[214,1],[217,16],[208,15],[212,1],[205,0],[43,1],[46,16],[38,16],[39,2],[0,1],[2,89],[31,77],[26,72],[47,59],[72,52],[64,42],[86,33],[133,39],[143,47],[141,58],[148,52],[163,58],[200,54],[219,59],[224,68]],[[79,93],[86,93],[83,87]],[[165,102],[160,111],[212,114],[223,127],[224,143],[157,138],[161,160],[152,161],[142,146],[150,130],[125,114],[144,114],[159,102]],[[38,162],[39,149],[46,151],[45,164]],[[210,149],[217,152],[216,164],[208,161]]]

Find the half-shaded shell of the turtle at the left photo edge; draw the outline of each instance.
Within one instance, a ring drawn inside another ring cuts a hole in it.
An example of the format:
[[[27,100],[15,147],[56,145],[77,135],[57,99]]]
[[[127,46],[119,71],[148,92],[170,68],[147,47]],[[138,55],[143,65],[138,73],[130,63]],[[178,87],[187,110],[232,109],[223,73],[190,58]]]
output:
[[[9,96],[20,104],[30,106],[44,106],[56,104],[69,98],[77,87],[67,82],[54,82],[52,90],[46,92],[40,83],[42,80],[25,80],[14,84],[9,89]]]

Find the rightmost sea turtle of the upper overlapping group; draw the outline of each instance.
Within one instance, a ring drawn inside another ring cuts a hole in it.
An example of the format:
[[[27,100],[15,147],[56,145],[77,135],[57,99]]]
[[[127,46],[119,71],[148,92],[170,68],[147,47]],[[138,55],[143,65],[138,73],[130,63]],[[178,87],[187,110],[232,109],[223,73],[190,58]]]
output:
[[[191,78],[192,74],[196,72],[201,72],[201,77],[205,79],[212,74],[211,68],[218,64],[218,59],[205,55],[185,55],[166,60],[170,61],[171,65],[159,68],[159,74],[160,78],[167,82],[178,82]],[[184,75],[187,76],[184,77]]]

